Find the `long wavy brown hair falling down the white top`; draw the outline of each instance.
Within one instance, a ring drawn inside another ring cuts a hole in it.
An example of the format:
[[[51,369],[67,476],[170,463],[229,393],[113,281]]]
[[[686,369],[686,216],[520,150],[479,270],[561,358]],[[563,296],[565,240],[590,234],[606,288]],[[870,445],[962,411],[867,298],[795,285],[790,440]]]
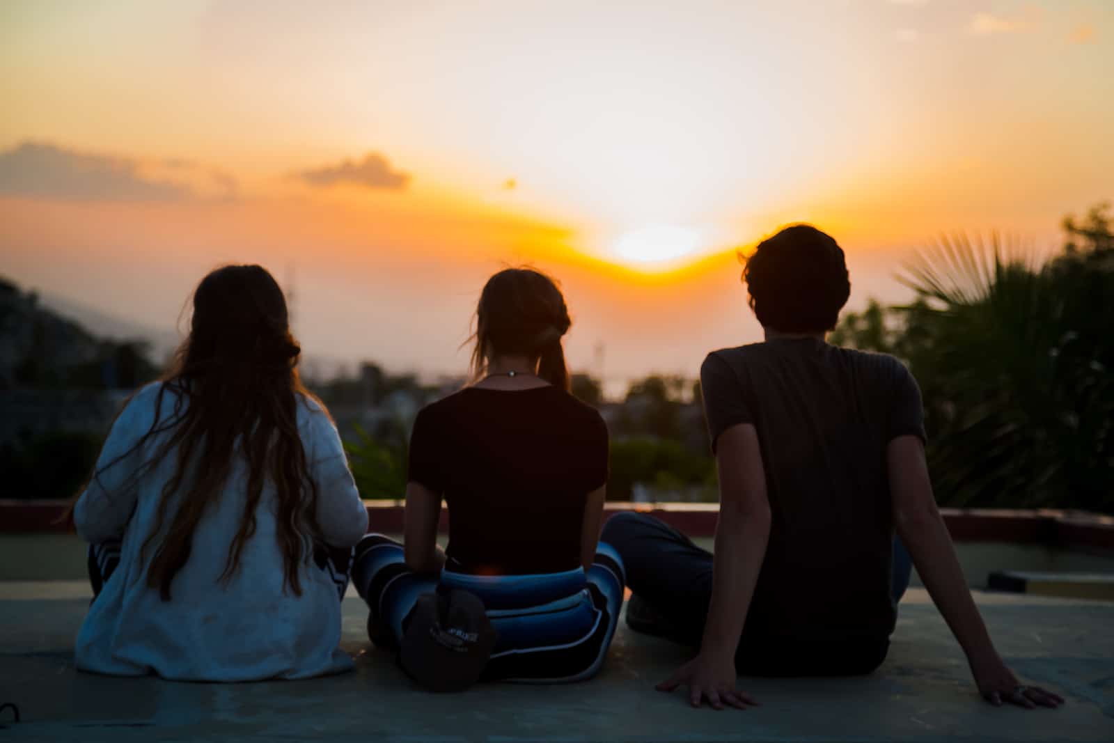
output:
[[[163,600],[170,599],[170,585],[189,559],[194,532],[221,498],[241,458],[247,466],[247,498],[219,580],[226,583],[238,569],[244,546],[255,535],[264,487],[270,483],[275,491],[283,586],[302,594],[300,567],[310,557],[320,528],[314,517],[316,486],[309,477],[297,430],[299,398],[311,397],[299,379],[300,354],[301,346],[290,331],[286,300],[265,268],[224,266],[197,285],[189,334],[163,377],[155,422],[136,443],[139,448],[155,436],[168,434],[145,471],[177,452],[156,522],[140,549],[143,559],[154,550],[146,583],[158,588]],[[174,398],[174,408],[163,419],[167,393]],[[94,471],[91,479],[115,463]],[[176,493],[180,497],[173,498]]]

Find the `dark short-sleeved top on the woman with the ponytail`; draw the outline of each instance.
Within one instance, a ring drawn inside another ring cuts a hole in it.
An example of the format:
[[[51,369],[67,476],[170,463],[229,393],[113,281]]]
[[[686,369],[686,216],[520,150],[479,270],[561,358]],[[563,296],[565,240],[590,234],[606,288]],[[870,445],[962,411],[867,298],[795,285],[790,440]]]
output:
[[[467,388],[418,413],[409,479],[448,504],[451,569],[571,570],[587,496],[607,482],[607,428],[555,387]]]

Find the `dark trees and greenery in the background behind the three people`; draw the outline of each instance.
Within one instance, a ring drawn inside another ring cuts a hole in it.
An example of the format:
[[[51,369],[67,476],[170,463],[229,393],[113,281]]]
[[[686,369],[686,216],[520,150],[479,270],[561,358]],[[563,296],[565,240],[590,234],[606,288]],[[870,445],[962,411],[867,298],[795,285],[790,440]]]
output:
[[[997,237],[941,239],[900,274],[905,305],[871,301],[830,341],[891,353],[924,395],[928,457],[942,505],[1114,512],[1114,235],[1108,205],[1066,217],[1056,255],[1035,262]],[[0,395],[138,387],[157,374],[141,343],[104,341],[0,280]],[[333,411],[365,498],[402,498],[417,410],[463,380],[424,384],[367,363],[307,380]],[[573,375],[612,438],[608,498],[715,499],[700,384],[631,383],[622,400]],[[374,411],[370,416],[368,411]],[[4,491],[65,498],[107,431],[17,432],[0,440]]]

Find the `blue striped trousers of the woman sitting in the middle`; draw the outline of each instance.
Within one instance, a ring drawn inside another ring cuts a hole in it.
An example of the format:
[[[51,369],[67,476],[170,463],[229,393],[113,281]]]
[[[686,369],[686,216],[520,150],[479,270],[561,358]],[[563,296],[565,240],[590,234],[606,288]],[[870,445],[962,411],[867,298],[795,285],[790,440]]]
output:
[[[370,534],[356,546],[352,581],[371,610],[372,642],[398,647],[418,597],[439,583],[479,596],[499,634],[485,681],[571,683],[599,672],[623,606],[623,560],[600,542],[596,560],[546,575],[475,576],[451,570],[419,575],[402,545]]]

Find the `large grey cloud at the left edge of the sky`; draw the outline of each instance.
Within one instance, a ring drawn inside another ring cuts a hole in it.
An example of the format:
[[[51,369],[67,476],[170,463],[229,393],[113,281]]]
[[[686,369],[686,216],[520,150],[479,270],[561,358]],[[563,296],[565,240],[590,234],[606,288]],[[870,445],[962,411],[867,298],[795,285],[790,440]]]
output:
[[[0,151],[0,195],[167,202],[190,198],[194,194],[186,184],[144,175],[136,159],[23,141]]]

